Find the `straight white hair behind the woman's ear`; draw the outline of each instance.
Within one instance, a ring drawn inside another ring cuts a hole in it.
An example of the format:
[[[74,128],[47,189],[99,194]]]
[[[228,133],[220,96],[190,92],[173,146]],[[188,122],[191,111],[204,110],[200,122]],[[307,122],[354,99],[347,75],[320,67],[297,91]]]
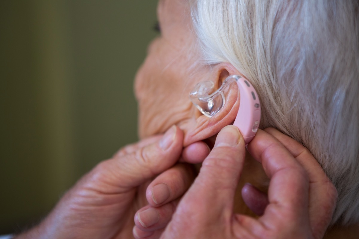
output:
[[[261,127],[298,140],[338,191],[332,223],[359,222],[359,3],[194,0],[205,64],[255,86]]]

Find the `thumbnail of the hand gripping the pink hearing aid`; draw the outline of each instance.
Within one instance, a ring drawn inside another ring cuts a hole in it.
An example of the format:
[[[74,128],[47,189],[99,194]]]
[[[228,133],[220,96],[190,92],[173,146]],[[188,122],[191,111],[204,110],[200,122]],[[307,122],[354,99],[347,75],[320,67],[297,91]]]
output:
[[[236,126],[225,126],[217,135],[214,147],[233,147],[239,143],[240,133]]]

